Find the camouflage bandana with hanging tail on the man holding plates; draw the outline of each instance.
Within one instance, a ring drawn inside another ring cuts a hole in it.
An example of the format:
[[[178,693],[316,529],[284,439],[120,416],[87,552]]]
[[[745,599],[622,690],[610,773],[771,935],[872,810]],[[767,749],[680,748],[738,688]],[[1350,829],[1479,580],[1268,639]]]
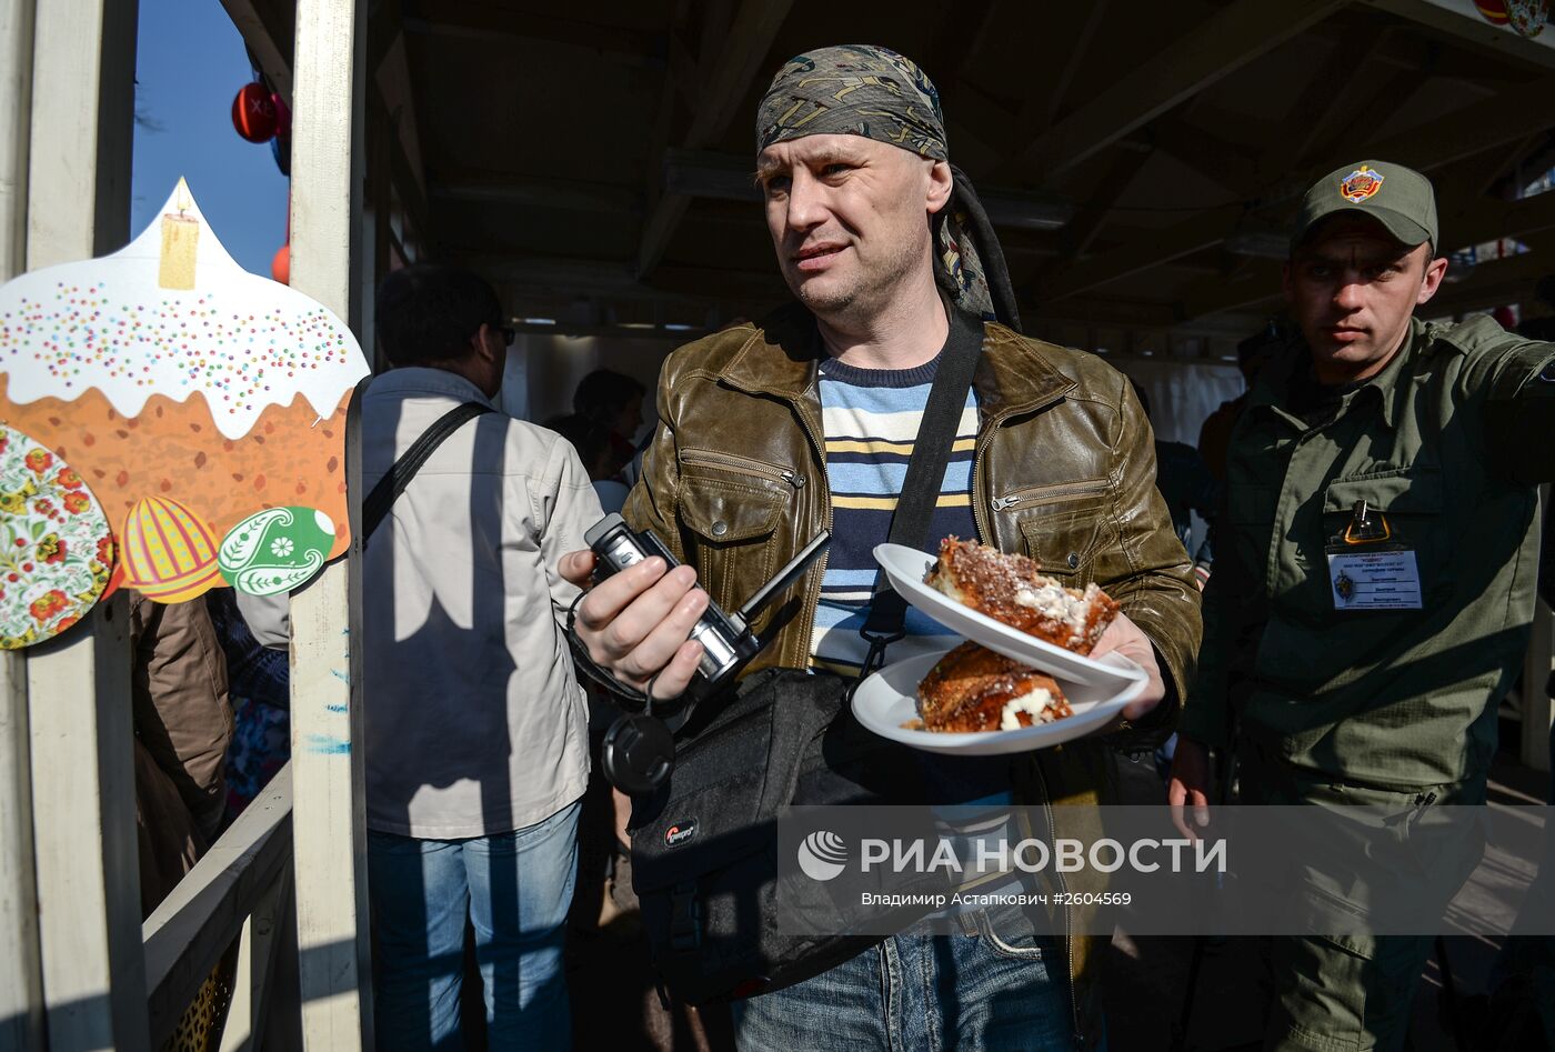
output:
[[[805,135],[861,135],[930,160],[950,160],[939,90],[916,62],[883,47],[819,48],[778,70],[756,110],[756,153]],[[952,173],[955,191],[933,224],[935,277],[963,310],[1019,328],[998,241],[972,181],[959,168]],[[997,269],[995,285],[1001,283],[995,293],[989,291],[984,257]]]

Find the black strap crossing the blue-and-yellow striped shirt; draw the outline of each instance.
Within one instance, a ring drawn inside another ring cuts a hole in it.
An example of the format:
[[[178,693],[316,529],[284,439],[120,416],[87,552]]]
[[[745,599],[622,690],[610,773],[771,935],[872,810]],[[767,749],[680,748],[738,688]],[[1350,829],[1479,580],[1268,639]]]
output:
[[[928,520],[939,503],[950,447],[956,440],[967,391],[972,389],[972,375],[983,353],[983,321],[950,305],[945,307],[945,313],[950,335],[939,356],[935,381],[928,387],[928,402],[917,425],[917,437],[913,439],[913,456],[907,461],[902,493],[891,515],[889,542],[917,549],[924,548],[928,537]],[[858,680],[885,663],[885,649],[905,635],[902,630],[905,621],[907,599],[886,582],[883,571],[879,573],[869,616],[858,629],[858,635],[869,641],[869,655],[858,671]]]

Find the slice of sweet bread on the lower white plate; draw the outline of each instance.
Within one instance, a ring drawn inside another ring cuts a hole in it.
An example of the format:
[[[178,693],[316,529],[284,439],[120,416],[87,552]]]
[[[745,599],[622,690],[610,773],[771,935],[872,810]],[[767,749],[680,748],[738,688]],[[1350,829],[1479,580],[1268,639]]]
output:
[[[1073,710],[1053,677],[963,643],[917,685],[917,714],[925,730],[964,733],[1051,724]]]

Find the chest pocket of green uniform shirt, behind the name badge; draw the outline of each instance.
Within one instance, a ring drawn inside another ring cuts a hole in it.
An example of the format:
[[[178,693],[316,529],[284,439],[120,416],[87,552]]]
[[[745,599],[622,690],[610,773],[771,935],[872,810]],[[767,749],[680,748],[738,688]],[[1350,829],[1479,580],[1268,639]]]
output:
[[[1396,468],[1334,479],[1323,492],[1320,543],[1344,532],[1358,501],[1382,512],[1390,540],[1415,552],[1421,596],[1446,584],[1452,538],[1446,535],[1440,468]]]

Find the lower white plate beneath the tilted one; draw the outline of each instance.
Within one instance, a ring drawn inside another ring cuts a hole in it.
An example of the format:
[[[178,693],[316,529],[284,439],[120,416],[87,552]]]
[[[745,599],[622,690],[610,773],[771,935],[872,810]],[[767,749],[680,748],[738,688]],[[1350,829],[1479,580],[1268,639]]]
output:
[[[969,735],[907,730],[902,724],[917,719],[917,685],[942,657],[944,654],[921,654],[885,666],[854,691],[854,716],[875,735],[913,749],[963,756],[994,756],[1047,749],[1084,738],[1110,724],[1123,711],[1123,707],[1144,689],[1144,675],[1140,672],[1140,666],[1121,654],[1109,654],[1101,658],[1101,665],[1126,674],[1140,672],[1140,675],[1127,675],[1127,685],[1121,691],[1085,683],[1059,683],[1070,708],[1075,710],[1075,714],[1067,719],[1022,727],[1020,730],[987,730]]]

